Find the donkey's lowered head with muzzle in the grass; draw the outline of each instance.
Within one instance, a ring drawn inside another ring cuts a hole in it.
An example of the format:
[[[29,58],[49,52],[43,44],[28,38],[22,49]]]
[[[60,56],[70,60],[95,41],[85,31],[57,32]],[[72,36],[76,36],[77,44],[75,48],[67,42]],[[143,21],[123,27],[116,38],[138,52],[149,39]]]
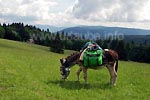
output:
[[[61,63],[60,66],[61,77],[62,79],[67,79],[70,74],[70,68],[68,66],[67,59],[65,58],[60,59],[60,63]]]

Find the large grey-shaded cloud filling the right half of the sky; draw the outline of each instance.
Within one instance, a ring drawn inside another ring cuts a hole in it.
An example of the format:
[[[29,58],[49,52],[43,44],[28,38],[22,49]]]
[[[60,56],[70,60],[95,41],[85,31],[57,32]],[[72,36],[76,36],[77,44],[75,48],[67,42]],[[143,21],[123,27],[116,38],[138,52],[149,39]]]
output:
[[[72,15],[89,21],[137,22],[144,20],[141,12],[147,2],[148,0],[78,0],[72,8]]]

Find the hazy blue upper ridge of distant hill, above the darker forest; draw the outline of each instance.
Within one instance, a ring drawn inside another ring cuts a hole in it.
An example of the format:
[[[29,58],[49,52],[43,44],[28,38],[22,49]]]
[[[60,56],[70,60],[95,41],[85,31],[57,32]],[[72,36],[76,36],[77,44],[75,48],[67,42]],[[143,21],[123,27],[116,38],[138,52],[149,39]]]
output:
[[[76,26],[63,29],[61,31],[68,34],[124,34],[124,35],[150,35],[150,30],[123,28],[123,27],[106,27],[106,26]]]

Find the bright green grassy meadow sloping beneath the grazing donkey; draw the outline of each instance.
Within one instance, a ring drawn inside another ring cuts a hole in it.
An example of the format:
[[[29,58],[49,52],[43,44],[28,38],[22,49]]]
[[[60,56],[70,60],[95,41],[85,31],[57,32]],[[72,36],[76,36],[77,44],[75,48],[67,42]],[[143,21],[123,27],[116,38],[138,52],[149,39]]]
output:
[[[59,59],[64,55],[38,45],[0,39],[0,100],[149,100],[150,64],[120,62],[117,86],[108,85],[106,68],[88,71],[89,85],[60,81]]]

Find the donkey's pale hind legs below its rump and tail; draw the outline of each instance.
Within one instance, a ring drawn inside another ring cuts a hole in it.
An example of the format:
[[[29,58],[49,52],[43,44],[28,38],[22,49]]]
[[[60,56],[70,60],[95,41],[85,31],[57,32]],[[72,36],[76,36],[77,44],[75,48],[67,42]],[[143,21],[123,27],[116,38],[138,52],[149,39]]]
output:
[[[110,83],[115,86],[116,85],[116,77],[117,77],[117,73],[115,71],[115,64],[116,63],[111,63],[109,65],[107,65],[107,69],[109,70],[110,73]]]

